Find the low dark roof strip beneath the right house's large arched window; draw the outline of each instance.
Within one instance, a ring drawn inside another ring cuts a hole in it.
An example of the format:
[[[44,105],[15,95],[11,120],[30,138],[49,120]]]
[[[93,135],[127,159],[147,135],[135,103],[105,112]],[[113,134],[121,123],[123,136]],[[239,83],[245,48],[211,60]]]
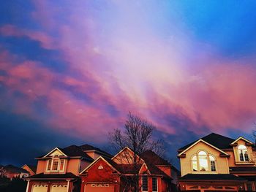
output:
[[[179,180],[244,180],[233,174],[186,174]]]

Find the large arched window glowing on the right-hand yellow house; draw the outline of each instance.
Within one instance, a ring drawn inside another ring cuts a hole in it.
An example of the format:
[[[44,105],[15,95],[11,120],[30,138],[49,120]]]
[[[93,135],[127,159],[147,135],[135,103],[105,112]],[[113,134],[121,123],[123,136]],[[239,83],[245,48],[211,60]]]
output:
[[[193,172],[216,172],[216,160],[213,155],[200,150],[197,155],[192,156]]]

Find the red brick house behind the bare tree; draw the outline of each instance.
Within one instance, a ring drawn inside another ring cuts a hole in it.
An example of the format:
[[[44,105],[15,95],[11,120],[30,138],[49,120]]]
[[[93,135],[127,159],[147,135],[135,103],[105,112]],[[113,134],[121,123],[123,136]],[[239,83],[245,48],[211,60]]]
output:
[[[167,161],[150,150],[136,155],[136,160],[134,156],[129,147],[112,158],[99,156],[80,172],[80,191],[132,191],[129,181],[135,175],[140,191],[170,191],[172,166]]]

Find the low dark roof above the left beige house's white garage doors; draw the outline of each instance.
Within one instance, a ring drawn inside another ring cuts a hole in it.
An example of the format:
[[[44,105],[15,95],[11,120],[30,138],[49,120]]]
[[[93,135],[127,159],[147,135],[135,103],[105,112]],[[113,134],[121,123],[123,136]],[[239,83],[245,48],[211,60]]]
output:
[[[79,177],[75,176],[75,174],[72,174],[70,172],[67,172],[66,174],[34,174],[30,177],[27,177],[26,179],[42,179],[42,180],[49,180],[49,179],[77,179]]]

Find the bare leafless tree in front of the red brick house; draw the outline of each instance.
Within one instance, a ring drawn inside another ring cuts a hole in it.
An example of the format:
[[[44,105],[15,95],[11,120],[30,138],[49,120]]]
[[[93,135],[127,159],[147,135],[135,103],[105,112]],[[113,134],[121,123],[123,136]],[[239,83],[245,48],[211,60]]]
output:
[[[133,153],[124,153],[120,159],[121,162],[126,161],[134,172],[132,177],[122,175],[128,186],[131,186],[132,191],[139,191],[139,173],[141,166],[140,155],[146,150],[153,150],[158,155],[163,155],[164,147],[162,140],[154,140],[152,138],[153,131],[156,127],[152,123],[132,115],[131,112],[127,115],[127,120],[124,128],[116,128],[110,132],[110,144],[116,152],[129,147]]]

